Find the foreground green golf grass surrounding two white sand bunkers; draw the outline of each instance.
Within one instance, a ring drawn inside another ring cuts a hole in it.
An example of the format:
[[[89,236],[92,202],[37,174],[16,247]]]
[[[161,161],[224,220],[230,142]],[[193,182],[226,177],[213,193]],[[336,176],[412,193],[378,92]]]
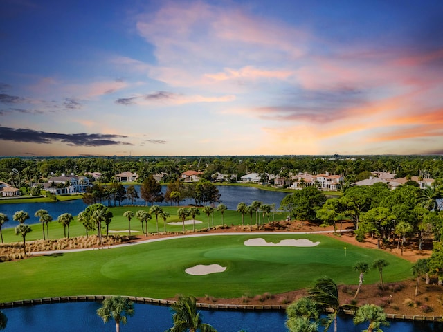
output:
[[[91,250],[1,263],[0,302],[67,295],[132,295],[168,298],[177,293],[198,297],[241,297],[282,293],[311,286],[322,275],[338,284],[356,284],[357,261],[386,259],[386,282],[410,277],[411,264],[383,250],[366,249],[322,235],[260,235],[266,241],[311,239],[316,247],[250,247],[256,235],[168,239],[110,250]],[[197,264],[226,266],[224,273],[188,275]],[[365,284],[379,281],[371,270]]]

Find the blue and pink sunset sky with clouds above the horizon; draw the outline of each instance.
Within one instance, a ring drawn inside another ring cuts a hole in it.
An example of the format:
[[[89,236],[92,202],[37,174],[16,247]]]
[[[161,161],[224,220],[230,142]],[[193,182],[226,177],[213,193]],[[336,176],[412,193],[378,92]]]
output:
[[[443,154],[437,0],[0,0],[1,156]]]

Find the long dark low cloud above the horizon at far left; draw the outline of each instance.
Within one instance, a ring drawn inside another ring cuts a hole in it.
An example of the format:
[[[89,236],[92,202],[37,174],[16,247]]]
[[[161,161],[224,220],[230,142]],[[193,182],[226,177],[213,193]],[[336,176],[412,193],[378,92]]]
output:
[[[127,138],[127,136],[101,133],[46,133],[44,131],[36,131],[32,129],[0,127],[0,140],[9,140],[13,142],[32,142],[39,144],[63,142],[70,146],[90,147],[132,145],[129,142],[115,140],[117,138]]]

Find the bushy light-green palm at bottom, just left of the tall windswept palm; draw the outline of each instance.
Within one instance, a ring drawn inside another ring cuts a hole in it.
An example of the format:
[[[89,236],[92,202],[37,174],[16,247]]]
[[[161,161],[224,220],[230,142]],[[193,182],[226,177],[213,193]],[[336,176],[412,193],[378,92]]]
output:
[[[310,297],[302,297],[286,308],[286,326],[290,332],[316,332],[320,312]]]

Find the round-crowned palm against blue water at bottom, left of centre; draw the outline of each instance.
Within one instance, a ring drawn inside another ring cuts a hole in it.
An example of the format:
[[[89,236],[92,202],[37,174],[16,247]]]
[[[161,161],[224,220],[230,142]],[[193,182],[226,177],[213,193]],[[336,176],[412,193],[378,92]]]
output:
[[[97,309],[97,315],[102,317],[104,323],[113,319],[116,322],[116,332],[120,331],[120,322],[126,324],[127,317],[135,314],[134,304],[127,297],[113,296],[103,301],[101,308]]]

